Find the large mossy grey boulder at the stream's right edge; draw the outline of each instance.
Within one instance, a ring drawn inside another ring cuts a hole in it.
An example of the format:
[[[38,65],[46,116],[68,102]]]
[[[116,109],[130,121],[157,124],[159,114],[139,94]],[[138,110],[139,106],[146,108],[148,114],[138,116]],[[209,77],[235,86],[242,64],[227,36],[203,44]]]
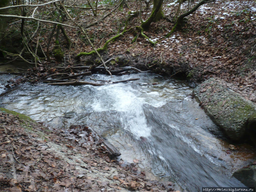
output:
[[[244,139],[256,144],[256,105],[232,90],[232,85],[219,78],[210,78],[193,93],[212,121],[226,135],[238,142]]]

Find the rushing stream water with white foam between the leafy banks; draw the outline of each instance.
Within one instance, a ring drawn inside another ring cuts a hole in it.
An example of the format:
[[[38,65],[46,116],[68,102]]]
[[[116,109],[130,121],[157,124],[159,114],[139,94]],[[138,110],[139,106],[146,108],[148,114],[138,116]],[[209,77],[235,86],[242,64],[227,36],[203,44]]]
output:
[[[130,78],[141,79],[105,86],[24,84],[3,94],[0,102],[49,129],[89,125],[119,148],[123,160],[137,159],[141,167],[170,179],[180,190],[243,186],[231,176],[255,160],[253,149],[239,145],[230,150],[219,128],[189,96],[187,84],[143,73],[111,80]]]

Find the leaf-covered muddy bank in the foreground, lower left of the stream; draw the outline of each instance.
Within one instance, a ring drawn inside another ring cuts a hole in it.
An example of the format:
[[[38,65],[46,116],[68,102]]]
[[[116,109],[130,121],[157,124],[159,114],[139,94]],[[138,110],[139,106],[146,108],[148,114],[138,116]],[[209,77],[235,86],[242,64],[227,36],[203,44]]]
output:
[[[10,113],[1,108],[1,191],[173,191],[137,160],[111,160],[93,137],[81,145],[67,130]]]

